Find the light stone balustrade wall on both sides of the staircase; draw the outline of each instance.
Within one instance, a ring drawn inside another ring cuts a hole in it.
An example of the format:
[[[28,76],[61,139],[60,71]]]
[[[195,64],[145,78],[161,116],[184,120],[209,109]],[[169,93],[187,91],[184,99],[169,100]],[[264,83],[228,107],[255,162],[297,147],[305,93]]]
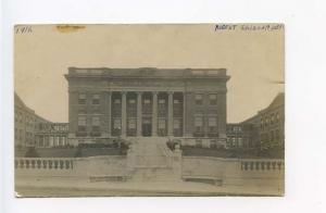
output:
[[[175,153],[176,154],[176,153]],[[221,159],[174,155],[173,173],[183,179],[213,179],[223,186],[264,186],[284,189],[284,161],[277,159]],[[22,166],[21,162],[24,162]],[[29,162],[28,168],[26,162]],[[35,161],[34,166],[32,161]],[[40,165],[36,161],[41,161]],[[45,166],[43,161],[47,162]],[[49,167],[49,162],[52,167]],[[57,161],[58,166],[54,167]],[[60,164],[60,161],[63,164]],[[181,163],[178,163],[181,161]],[[68,162],[68,163],[67,163]],[[16,177],[127,177],[126,156],[90,156],[76,159],[15,159]],[[178,175],[181,173],[180,175]],[[159,174],[159,173],[158,173]]]

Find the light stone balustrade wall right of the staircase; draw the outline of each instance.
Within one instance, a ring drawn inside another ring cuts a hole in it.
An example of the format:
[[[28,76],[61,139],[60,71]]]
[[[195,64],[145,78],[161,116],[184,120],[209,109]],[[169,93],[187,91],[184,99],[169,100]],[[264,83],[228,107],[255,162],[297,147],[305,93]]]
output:
[[[244,163],[247,163],[247,167],[244,167]],[[251,166],[251,163],[254,166]],[[264,170],[262,164],[264,164]],[[267,164],[269,164],[268,168]],[[262,185],[284,188],[284,161],[276,159],[241,160],[184,156],[183,178],[216,179],[222,180],[223,185]]]

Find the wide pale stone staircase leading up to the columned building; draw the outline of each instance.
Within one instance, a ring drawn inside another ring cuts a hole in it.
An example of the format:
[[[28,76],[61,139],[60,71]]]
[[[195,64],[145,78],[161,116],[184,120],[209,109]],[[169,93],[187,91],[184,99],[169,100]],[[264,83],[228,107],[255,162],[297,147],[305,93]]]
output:
[[[127,154],[129,179],[172,181],[180,179],[180,153],[168,149],[164,137],[131,139]]]

